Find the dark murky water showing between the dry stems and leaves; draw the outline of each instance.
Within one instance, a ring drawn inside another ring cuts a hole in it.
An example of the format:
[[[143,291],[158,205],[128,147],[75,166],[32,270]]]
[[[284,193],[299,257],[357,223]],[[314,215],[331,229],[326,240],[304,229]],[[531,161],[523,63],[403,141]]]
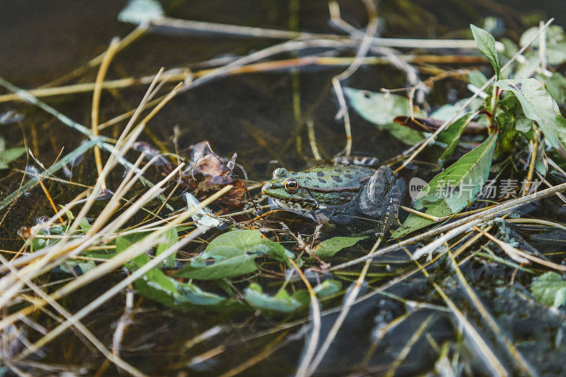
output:
[[[126,1],[115,0],[6,2],[2,5],[0,13],[0,76],[17,86],[35,88],[76,69],[105,51],[113,36],[124,36],[132,30],[131,25],[119,23],[116,19],[125,3]],[[531,1],[507,1],[507,4],[512,4],[512,11],[507,11],[509,8],[502,8],[505,3],[488,0],[381,1],[380,10],[383,13],[380,13],[380,16],[385,24],[385,36],[465,37],[469,23],[478,23],[482,16],[490,14],[502,18],[502,21],[512,28],[510,35],[516,36],[516,33],[526,28],[519,16],[537,9],[533,8]],[[299,20],[301,30],[320,33],[330,31],[327,1],[300,1],[296,14],[289,11],[288,1],[279,0],[164,1],[163,4],[168,16],[177,18],[286,29],[289,27],[289,18],[295,17]],[[340,1],[340,6],[346,21],[355,27],[365,25],[366,16],[361,3]],[[558,25],[566,22],[566,4],[540,1],[536,6],[543,14],[556,17]],[[251,38],[146,35],[117,55],[112,61],[108,79],[151,75],[161,66],[166,69],[188,66],[216,57],[247,54],[251,50],[260,50],[270,44],[270,40]],[[302,168],[306,166],[306,159],[308,160],[312,153],[304,128],[299,132],[301,143],[296,143],[296,127],[304,127],[304,124],[297,124],[294,119],[293,95],[299,94],[301,115],[309,114],[313,119],[320,153],[324,157],[333,156],[344,147],[345,137],[342,122],[334,118],[337,106],[330,91],[330,79],[343,69],[306,69],[297,74],[296,81],[293,81],[289,71],[278,71],[231,76],[207,83],[172,100],[151,120],[148,132],[142,135],[141,139],[152,144],[158,141],[161,143],[160,147],[174,151],[173,130],[178,127],[180,152],[187,151],[191,144],[207,139],[221,156],[238,153],[238,163],[246,168],[253,180],[268,178],[276,165],[274,161],[277,161],[277,166]],[[198,71],[199,68],[195,67],[194,70]],[[81,76],[80,80],[89,82],[95,77],[96,70],[91,70]],[[299,90],[294,91],[294,85],[297,83]],[[403,87],[405,80],[391,66],[364,66],[347,81],[347,85],[379,91],[380,88]],[[454,90],[458,93],[463,91],[464,87],[463,83],[446,83],[446,86],[433,92],[434,100],[431,99],[431,102],[445,103],[447,91]],[[144,88],[139,87],[111,93],[103,92],[102,120],[135,108],[143,94]],[[46,102],[79,123],[87,126],[90,123],[91,93],[47,98]],[[52,163],[63,148],[64,151],[70,151],[84,139],[78,132],[71,131],[30,105],[0,103],[0,113],[14,106],[23,111],[25,122],[21,129],[17,124],[1,126],[2,137],[8,145],[21,144],[24,132],[30,149],[45,165]],[[376,130],[357,115],[351,114],[351,117],[354,151],[370,153],[385,160],[405,149],[403,144],[389,137],[386,132]],[[111,136],[116,134],[117,128],[108,132]],[[93,182],[93,171],[93,161],[89,154],[86,161],[76,168],[72,180]],[[1,195],[12,192],[20,178],[19,175],[11,175],[2,180]],[[114,178],[110,185],[118,182],[120,174]],[[48,188],[57,203],[66,202],[81,191],[80,187],[72,188],[57,182],[50,182]],[[2,216],[4,213],[5,211],[0,212]],[[16,236],[17,229],[33,224],[37,216],[46,213],[50,213],[50,207],[39,188],[18,200],[0,227],[1,248],[17,250],[21,245],[21,239]],[[395,266],[395,260],[380,261],[380,264],[383,272],[388,272],[391,265]],[[507,268],[505,273],[509,273],[509,267],[499,268]],[[499,272],[486,266],[481,273],[482,276],[489,277],[488,282],[495,282]],[[88,302],[91,290],[97,289],[96,287],[99,287],[100,291],[108,289],[114,282],[113,279],[103,279],[96,286],[88,286],[84,291],[76,292],[61,302],[69,311],[77,311]],[[372,287],[380,286],[387,280],[376,278],[370,284]],[[433,295],[429,288],[424,278],[417,277],[410,284],[400,284],[389,292],[420,300],[423,295]],[[446,283],[446,289],[449,289],[449,283]],[[455,288],[452,293],[455,296],[461,295]],[[507,293],[499,294],[504,296]],[[485,297],[487,301],[495,301],[494,306],[497,306],[497,299],[498,297],[494,296]],[[520,294],[510,300],[514,305],[521,305]],[[83,322],[105,344],[112,342],[112,326],[122,315],[123,301],[123,296],[117,296]],[[340,301],[334,302],[336,305],[339,303]],[[390,336],[383,340],[383,343],[379,344],[378,352],[371,354],[368,351],[374,339],[371,337],[371,331],[405,313],[405,309],[403,303],[379,295],[355,306],[337,337],[336,344],[340,346],[330,349],[320,366],[320,374],[378,374],[387,370],[391,361],[405,344],[410,342],[410,337],[426,320],[431,321],[430,327],[427,328],[429,341],[423,337],[414,344],[415,352],[410,354],[410,362],[403,364],[395,375],[429,371],[438,350],[435,347],[441,347],[444,340],[454,337],[454,329],[444,318],[446,314],[439,314],[438,311],[423,309],[412,316],[405,326],[394,332],[395,337]],[[501,313],[504,310],[505,308],[500,308]],[[531,323],[540,325],[546,336],[562,329],[560,318],[557,314],[555,318],[551,318],[554,322],[548,320],[550,322],[546,323],[531,318]],[[334,319],[335,315],[325,317],[323,333],[329,330]],[[42,320],[42,325],[46,327],[55,326],[54,320]],[[216,375],[261,354],[270,346],[270,342],[279,336],[286,336],[289,340],[282,344],[281,348],[270,356],[261,358],[246,374],[287,376],[296,368],[304,338],[291,337],[299,332],[298,326],[269,334],[268,330],[272,329],[274,323],[276,321],[270,318],[250,313],[237,313],[229,318],[223,315],[164,311],[163,307],[157,304],[141,301],[139,312],[134,316],[134,323],[122,340],[121,356],[146,373],[163,375],[188,370],[191,375]],[[185,349],[189,340],[216,325],[219,326],[219,335]],[[512,321],[509,326],[513,326]],[[525,331],[524,344],[535,336],[533,331]],[[526,348],[525,345],[523,347]],[[100,354],[84,346],[72,332],[59,337],[45,351],[47,354],[40,361],[64,364],[67,368],[86,366],[88,374],[97,371],[103,361]],[[218,352],[218,356],[204,361],[194,359],[195,356],[202,356],[203,352],[208,351]],[[352,369],[354,365],[357,369]],[[116,373],[113,368],[111,366],[108,373]],[[549,372],[554,373],[554,368],[555,364],[551,364]],[[478,370],[484,371],[479,366]]]

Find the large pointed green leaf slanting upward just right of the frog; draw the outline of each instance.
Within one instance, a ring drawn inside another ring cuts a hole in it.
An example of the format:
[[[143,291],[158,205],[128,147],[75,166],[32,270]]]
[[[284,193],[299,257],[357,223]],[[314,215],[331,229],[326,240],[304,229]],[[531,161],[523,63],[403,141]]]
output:
[[[431,216],[443,217],[456,214],[466,207],[468,200],[472,201],[478,195],[490,175],[496,144],[497,133],[494,133],[432,178],[415,197],[415,209]],[[409,214],[392,237],[403,237],[430,224],[434,224],[434,221]]]

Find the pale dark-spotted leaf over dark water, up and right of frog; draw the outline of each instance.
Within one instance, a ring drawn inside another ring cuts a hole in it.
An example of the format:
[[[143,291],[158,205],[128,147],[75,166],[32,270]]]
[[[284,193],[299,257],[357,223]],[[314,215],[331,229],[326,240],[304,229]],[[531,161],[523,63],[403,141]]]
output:
[[[410,103],[407,98],[395,94],[374,93],[346,87],[344,93],[352,108],[365,120],[375,124],[377,128],[387,130],[405,144],[415,144],[423,139],[422,134],[415,129],[393,122],[395,117],[410,115]],[[424,114],[415,111],[415,117],[420,116]]]

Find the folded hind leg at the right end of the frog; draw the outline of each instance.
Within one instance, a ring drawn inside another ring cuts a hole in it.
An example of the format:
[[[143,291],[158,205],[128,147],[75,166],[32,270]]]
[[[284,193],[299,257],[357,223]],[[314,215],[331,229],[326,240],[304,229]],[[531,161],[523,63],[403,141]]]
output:
[[[381,219],[383,231],[398,226],[398,209],[404,186],[402,179],[395,180],[391,168],[381,166],[359,192],[359,211],[364,216]]]

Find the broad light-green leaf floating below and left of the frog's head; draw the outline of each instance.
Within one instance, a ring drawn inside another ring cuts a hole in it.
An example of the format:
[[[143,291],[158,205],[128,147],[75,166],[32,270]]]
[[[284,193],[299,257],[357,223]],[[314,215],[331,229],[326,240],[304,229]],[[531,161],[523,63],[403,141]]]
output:
[[[176,276],[215,280],[250,274],[258,270],[255,258],[264,254],[279,262],[293,257],[279,243],[262,238],[258,231],[230,231],[214,238],[204,252],[192,258]]]

